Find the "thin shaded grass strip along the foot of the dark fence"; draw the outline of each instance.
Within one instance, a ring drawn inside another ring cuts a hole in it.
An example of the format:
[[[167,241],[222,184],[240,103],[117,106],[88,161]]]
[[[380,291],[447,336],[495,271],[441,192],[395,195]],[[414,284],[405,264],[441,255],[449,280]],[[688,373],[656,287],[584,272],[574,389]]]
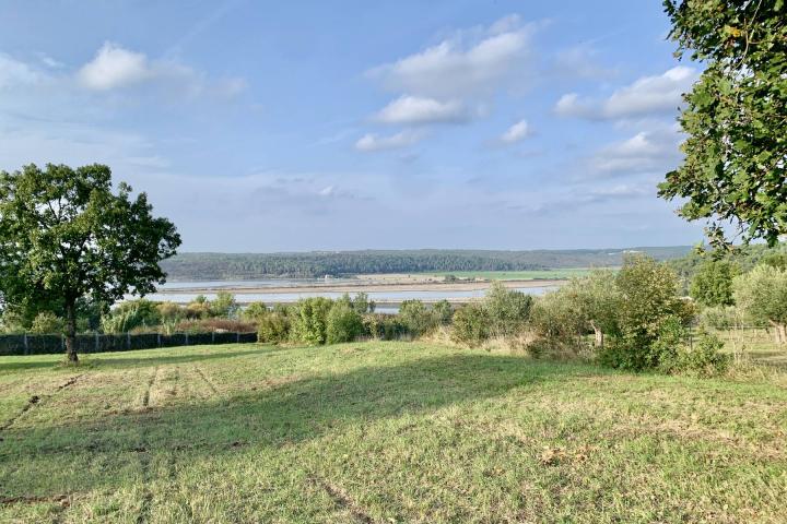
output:
[[[79,370],[102,370],[106,368],[129,368],[145,366],[164,366],[168,364],[189,364],[205,360],[220,360],[233,357],[245,357],[249,355],[273,354],[289,350],[286,347],[262,346],[262,345],[237,345],[237,346],[178,346],[172,348],[172,355],[167,355],[166,348],[138,349],[128,353],[90,353],[81,354],[81,361],[78,366],[66,368],[66,356],[37,355],[25,357],[9,357],[13,360],[0,360],[0,372],[24,371],[28,369],[56,369],[63,367],[74,371]],[[209,352],[209,353],[207,353]],[[38,359],[38,358],[44,359]]]

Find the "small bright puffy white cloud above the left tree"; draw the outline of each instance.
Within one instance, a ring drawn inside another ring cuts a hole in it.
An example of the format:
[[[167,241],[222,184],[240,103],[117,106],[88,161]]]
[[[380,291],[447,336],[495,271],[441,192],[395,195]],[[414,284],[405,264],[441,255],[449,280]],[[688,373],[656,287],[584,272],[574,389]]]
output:
[[[155,75],[143,53],[107,41],[95,58],[80,69],[78,79],[89,90],[108,91],[138,84]]]

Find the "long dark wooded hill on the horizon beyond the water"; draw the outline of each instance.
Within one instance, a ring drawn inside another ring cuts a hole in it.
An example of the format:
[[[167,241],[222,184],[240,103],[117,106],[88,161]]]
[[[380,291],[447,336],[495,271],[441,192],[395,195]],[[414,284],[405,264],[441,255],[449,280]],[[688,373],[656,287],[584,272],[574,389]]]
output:
[[[684,257],[690,246],[531,251],[366,250],[299,253],[181,253],[162,262],[169,281],[309,278],[374,273],[526,271],[620,265],[626,252],[657,260]]]

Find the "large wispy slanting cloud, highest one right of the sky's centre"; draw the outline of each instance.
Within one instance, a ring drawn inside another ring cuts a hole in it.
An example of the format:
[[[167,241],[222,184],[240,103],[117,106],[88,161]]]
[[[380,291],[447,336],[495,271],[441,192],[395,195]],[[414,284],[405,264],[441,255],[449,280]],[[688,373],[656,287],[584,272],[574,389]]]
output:
[[[456,97],[490,92],[528,66],[533,25],[506,16],[488,29],[458,33],[421,52],[368,71],[388,88]]]

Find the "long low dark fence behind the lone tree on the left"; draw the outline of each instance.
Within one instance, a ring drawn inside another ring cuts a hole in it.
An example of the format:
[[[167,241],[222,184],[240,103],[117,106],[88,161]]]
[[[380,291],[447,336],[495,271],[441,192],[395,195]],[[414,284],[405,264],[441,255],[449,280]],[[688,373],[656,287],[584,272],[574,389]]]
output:
[[[129,352],[155,347],[257,342],[257,333],[130,333],[77,335],[78,353]],[[51,355],[66,350],[62,335],[0,335],[0,355]]]

